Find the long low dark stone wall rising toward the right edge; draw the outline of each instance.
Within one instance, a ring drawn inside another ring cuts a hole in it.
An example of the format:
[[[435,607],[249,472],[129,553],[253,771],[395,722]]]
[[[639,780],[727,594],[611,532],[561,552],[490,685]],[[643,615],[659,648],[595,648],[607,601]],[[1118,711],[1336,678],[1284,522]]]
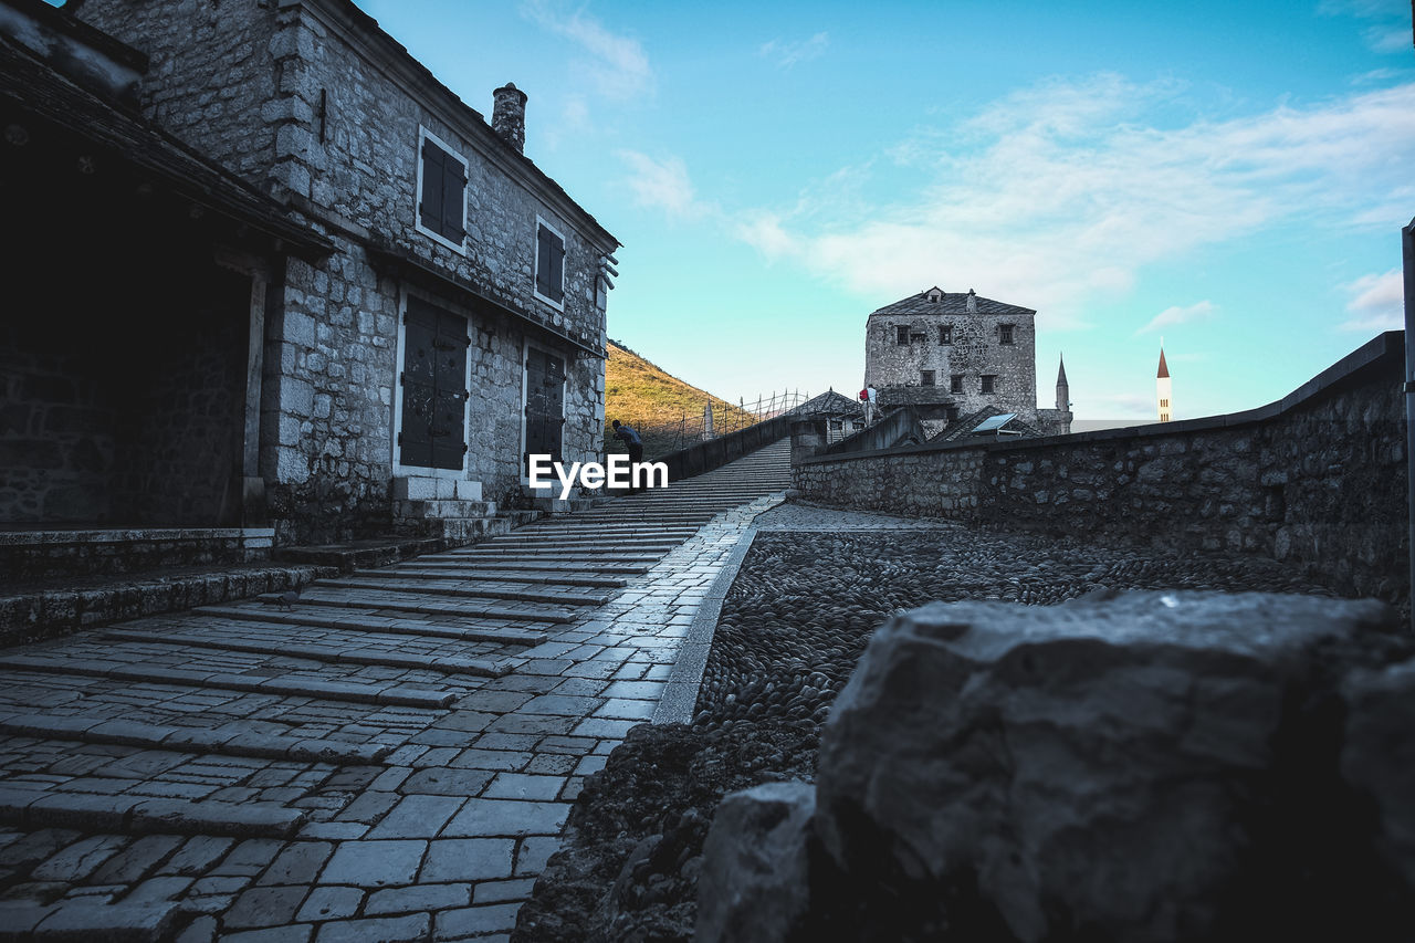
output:
[[[1024,442],[804,459],[825,504],[1290,561],[1336,589],[1408,593],[1404,336],[1231,416]]]

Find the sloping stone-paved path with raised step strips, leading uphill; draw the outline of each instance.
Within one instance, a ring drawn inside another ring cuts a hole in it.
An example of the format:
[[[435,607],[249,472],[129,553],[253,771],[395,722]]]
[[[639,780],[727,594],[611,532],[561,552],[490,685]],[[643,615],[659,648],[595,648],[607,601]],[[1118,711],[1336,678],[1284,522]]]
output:
[[[501,939],[788,459],[0,651],[0,937]]]

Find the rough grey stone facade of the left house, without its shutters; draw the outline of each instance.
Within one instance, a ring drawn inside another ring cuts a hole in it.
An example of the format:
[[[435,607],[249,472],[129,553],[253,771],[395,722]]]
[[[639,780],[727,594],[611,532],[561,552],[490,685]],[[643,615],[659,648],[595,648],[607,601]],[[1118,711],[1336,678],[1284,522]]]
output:
[[[617,242],[374,20],[347,0],[89,0],[79,16],[151,58],[151,119],[335,246],[263,273],[259,479],[282,542],[388,530],[393,497],[516,501],[535,348],[563,362],[562,455],[597,455],[597,289]],[[423,225],[424,142],[464,170],[461,242]],[[536,292],[543,227],[563,239],[559,302]],[[464,429],[436,432],[463,436],[460,469],[403,460],[409,297],[467,321]]]

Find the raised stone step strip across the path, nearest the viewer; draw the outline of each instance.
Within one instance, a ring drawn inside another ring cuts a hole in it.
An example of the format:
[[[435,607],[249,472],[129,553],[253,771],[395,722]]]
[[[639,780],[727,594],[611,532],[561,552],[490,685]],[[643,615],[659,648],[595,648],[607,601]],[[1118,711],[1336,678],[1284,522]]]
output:
[[[0,821],[35,831],[290,838],[308,818],[276,803],[218,803],[144,796],[95,796],[0,789]]]

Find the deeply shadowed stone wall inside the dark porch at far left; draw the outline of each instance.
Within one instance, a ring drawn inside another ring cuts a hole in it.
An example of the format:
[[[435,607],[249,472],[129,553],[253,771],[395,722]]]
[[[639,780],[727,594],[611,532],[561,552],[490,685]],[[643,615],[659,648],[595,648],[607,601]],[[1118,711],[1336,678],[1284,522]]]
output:
[[[195,255],[151,280],[116,249],[72,279],[44,252],[17,268],[38,306],[0,327],[0,521],[235,522],[249,280]]]

